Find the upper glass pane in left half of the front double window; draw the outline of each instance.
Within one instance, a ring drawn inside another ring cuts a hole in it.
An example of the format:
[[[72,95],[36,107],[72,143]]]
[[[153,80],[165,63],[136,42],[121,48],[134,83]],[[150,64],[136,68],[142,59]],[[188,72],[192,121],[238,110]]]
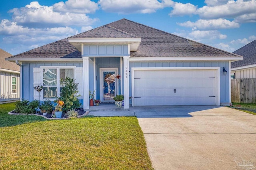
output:
[[[57,68],[43,69],[43,86],[57,86]]]

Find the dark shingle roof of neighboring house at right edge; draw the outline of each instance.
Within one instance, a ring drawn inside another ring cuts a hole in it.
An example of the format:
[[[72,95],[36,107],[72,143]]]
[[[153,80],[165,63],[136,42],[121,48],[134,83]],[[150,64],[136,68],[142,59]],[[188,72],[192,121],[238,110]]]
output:
[[[256,64],[256,40],[250,42],[244,47],[241,47],[233,53],[237,55],[242,55],[243,60],[232,62],[231,68]]]

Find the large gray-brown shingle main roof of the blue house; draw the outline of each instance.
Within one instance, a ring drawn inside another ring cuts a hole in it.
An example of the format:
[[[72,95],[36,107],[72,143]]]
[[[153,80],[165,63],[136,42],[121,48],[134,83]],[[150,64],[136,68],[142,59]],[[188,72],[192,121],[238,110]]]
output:
[[[138,50],[131,52],[130,57],[240,57],[233,53],[126,19],[118,20],[69,38],[120,37],[141,38]],[[66,38],[13,57],[81,58],[81,53],[68,43],[68,38]]]

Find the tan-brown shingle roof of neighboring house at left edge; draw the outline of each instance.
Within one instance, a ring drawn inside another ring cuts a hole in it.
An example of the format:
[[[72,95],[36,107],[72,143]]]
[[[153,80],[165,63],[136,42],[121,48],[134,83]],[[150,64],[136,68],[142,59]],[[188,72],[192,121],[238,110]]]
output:
[[[20,66],[18,66],[16,63],[5,60],[5,58],[8,58],[10,56],[12,56],[10,53],[7,53],[6,51],[0,49],[0,68],[6,70],[20,71]]]

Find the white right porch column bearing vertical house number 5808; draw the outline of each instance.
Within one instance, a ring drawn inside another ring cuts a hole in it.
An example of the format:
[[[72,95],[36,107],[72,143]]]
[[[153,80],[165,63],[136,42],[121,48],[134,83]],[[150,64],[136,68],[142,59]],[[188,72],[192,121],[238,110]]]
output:
[[[129,59],[130,56],[124,56],[124,108],[129,109]]]

